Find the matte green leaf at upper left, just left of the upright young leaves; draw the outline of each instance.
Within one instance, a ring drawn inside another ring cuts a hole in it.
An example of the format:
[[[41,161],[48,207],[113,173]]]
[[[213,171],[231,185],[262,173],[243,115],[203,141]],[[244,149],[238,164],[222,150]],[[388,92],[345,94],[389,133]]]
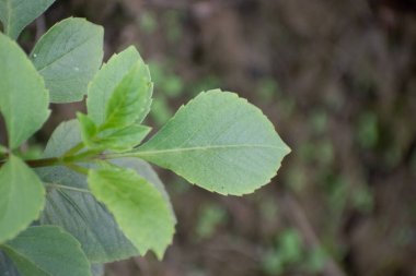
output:
[[[31,53],[51,103],[81,100],[103,59],[102,26],[69,17],[54,25]]]

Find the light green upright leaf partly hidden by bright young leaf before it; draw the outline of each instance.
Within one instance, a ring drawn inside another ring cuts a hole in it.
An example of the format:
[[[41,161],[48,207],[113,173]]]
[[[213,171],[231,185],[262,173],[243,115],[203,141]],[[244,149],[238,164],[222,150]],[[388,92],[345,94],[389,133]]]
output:
[[[104,123],[109,97],[126,74],[138,62],[146,67],[139,52],[135,47],[130,46],[118,55],[115,53],[95,74],[89,85],[86,107],[88,115],[96,125]],[[146,83],[150,83],[150,73],[148,71],[143,77]]]

